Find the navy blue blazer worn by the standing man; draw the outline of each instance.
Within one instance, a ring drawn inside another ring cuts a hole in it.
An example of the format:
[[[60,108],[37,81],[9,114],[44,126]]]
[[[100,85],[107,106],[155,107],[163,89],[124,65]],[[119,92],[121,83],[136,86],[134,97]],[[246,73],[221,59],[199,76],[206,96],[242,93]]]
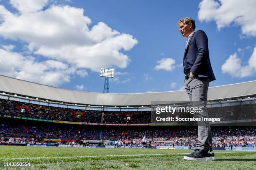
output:
[[[198,30],[190,38],[183,57],[184,73],[195,73],[198,77],[216,80],[208,50],[208,38],[204,31]]]

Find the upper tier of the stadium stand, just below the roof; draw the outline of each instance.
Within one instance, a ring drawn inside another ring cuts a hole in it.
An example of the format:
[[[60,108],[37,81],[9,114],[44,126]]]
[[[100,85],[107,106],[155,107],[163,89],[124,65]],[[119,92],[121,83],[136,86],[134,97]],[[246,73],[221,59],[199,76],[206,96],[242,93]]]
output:
[[[221,117],[222,120],[244,120],[255,117],[256,104],[210,107],[210,117]],[[33,117],[47,120],[61,120],[86,123],[150,123],[151,111],[101,111],[77,110],[63,107],[36,105],[26,102],[0,99],[0,114],[20,117]]]

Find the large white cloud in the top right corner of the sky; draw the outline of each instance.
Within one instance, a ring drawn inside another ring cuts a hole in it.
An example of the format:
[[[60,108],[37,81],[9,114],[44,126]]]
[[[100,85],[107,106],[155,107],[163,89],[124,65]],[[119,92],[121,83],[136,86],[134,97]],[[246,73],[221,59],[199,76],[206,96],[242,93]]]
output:
[[[202,21],[214,20],[220,30],[231,23],[241,26],[242,33],[256,36],[255,0],[202,0],[198,18]]]

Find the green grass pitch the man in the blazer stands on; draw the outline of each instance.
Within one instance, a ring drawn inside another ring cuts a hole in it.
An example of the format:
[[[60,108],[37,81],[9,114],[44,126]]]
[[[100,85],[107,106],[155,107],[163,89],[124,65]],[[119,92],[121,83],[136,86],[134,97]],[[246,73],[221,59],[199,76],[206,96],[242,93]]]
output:
[[[215,161],[183,160],[193,150],[0,146],[1,169],[36,170],[256,170],[256,152],[215,151]],[[4,162],[29,162],[6,167]]]

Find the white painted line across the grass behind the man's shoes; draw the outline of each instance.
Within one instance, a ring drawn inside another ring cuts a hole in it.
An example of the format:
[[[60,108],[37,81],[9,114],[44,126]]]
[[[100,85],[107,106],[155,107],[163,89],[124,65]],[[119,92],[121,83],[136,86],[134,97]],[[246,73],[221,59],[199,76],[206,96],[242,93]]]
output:
[[[217,152],[217,153],[244,153],[248,151],[241,152]],[[157,156],[157,155],[186,155],[190,153],[159,153],[159,154],[136,154],[136,155],[86,155],[86,156],[53,156],[53,157],[26,157],[26,158],[2,158],[0,160],[37,160],[37,159],[70,159],[70,158],[98,158],[98,157],[126,157],[126,156]],[[215,153],[216,154],[216,153]]]

